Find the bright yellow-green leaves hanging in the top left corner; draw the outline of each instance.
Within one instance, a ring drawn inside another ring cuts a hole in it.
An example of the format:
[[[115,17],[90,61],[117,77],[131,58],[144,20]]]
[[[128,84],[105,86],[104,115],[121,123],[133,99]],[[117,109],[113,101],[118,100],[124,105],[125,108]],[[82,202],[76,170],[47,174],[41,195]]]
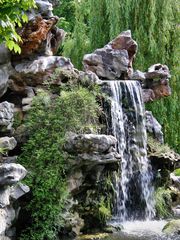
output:
[[[25,12],[35,6],[35,0],[0,0],[0,43],[5,42],[15,53],[21,52],[18,45],[21,37],[16,27],[22,27],[22,23],[28,22]]]

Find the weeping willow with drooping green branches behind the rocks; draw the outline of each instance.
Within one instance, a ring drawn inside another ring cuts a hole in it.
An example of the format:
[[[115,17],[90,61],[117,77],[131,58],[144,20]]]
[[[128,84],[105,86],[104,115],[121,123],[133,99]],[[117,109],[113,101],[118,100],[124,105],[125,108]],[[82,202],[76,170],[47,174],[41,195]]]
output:
[[[180,150],[178,0],[72,0],[76,6],[74,30],[64,45],[64,55],[78,68],[84,54],[100,48],[121,31],[131,29],[139,49],[134,64],[141,71],[154,63],[171,70],[172,96],[147,105],[164,128],[165,141]]]

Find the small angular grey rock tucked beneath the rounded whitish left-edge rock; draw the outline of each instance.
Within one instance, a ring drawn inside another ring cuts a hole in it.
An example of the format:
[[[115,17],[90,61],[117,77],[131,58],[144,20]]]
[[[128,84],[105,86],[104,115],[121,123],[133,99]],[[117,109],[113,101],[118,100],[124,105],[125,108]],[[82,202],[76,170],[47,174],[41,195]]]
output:
[[[12,200],[17,200],[29,191],[30,188],[28,186],[19,183],[18,185],[11,187],[10,197]]]

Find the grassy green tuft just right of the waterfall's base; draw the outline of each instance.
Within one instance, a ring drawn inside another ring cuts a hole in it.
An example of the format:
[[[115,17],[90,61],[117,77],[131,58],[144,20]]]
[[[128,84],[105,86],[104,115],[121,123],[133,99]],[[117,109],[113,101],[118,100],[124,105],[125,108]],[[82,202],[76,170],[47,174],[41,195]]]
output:
[[[159,187],[155,192],[155,208],[156,216],[159,218],[167,218],[172,216],[172,199],[171,191],[164,187]]]

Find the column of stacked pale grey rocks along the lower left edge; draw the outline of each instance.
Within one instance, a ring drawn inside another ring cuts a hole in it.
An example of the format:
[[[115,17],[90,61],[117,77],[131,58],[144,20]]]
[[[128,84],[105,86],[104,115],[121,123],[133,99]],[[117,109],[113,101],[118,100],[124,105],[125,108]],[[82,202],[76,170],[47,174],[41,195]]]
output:
[[[5,149],[6,153],[15,146],[16,140],[13,137],[0,138],[0,148]],[[16,235],[13,225],[19,213],[19,208],[14,207],[14,202],[29,192],[29,187],[19,183],[26,176],[26,169],[12,162],[14,157],[10,158],[11,160],[8,160],[8,157],[1,156],[0,161],[0,239],[9,240],[14,239]]]

